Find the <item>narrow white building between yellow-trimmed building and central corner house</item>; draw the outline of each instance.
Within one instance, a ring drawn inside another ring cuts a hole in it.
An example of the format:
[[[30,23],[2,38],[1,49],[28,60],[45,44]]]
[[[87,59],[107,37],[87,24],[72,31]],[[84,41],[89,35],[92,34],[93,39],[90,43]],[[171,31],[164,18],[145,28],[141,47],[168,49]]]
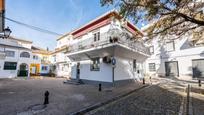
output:
[[[55,66],[56,77],[70,77],[71,61],[65,56],[65,52],[68,50],[68,44],[69,39],[67,35],[62,36],[57,39],[57,47],[55,51],[52,52],[51,62]]]

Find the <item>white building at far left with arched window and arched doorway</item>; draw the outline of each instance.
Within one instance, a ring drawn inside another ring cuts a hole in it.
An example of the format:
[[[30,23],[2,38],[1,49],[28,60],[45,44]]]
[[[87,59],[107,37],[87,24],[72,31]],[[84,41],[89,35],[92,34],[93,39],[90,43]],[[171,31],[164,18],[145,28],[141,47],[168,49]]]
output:
[[[0,78],[29,76],[32,42],[9,37],[0,39]]]

